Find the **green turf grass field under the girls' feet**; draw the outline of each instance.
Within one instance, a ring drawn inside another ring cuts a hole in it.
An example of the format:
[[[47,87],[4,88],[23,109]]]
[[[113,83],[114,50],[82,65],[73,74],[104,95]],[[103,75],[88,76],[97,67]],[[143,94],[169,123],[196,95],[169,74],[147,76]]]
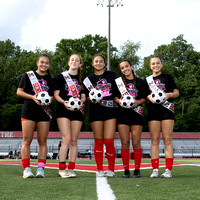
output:
[[[0,160],[14,161],[14,160]],[[16,160],[19,161],[19,160]],[[31,162],[36,160],[31,160]],[[58,162],[48,160],[48,162]],[[143,162],[150,162],[144,160]],[[199,160],[175,160],[175,162],[199,162]],[[95,164],[94,160],[77,160],[77,164]],[[117,164],[121,160],[116,160]],[[133,163],[133,161],[131,161]],[[106,162],[105,162],[106,164]],[[31,167],[35,173],[35,167]],[[76,172],[77,178],[61,179],[58,177],[58,169],[45,169],[44,179],[23,179],[22,166],[0,165],[0,199],[15,200],[53,200],[53,199],[73,199],[73,200],[95,200],[96,174],[88,172]],[[164,168],[160,168],[160,174]],[[142,169],[142,177],[139,179],[122,178],[123,171],[117,172],[115,178],[108,178],[118,200],[164,200],[164,199],[200,199],[200,167],[199,166],[174,166],[173,178],[171,179],[151,179],[149,178],[152,169]],[[105,199],[106,200],[106,199]]]

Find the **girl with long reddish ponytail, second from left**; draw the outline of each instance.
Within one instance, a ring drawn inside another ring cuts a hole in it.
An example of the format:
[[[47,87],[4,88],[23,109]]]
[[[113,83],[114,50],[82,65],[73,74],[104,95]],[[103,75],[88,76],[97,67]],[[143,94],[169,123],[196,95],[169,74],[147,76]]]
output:
[[[68,75],[70,76],[73,85],[76,87],[78,98],[81,99],[81,108],[85,102],[85,94],[82,90],[81,66],[83,65],[82,57],[73,54],[68,61]],[[74,173],[75,161],[78,153],[77,141],[78,135],[83,123],[83,113],[72,111],[68,106],[69,98],[73,96],[73,91],[70,89],[63,74],[59,74],[55,79],[54,97],[57,100],[57,123],[62,136],[62,145],[59,151],[59,171],[58,174],[62,178],[76,177]],[[66,170],[66,157],[69,150],[69,164]]]

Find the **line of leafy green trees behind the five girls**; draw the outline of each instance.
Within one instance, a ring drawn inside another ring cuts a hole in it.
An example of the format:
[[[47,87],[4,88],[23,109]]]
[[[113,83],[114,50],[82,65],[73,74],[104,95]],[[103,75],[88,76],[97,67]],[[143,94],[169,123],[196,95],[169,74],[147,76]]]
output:
[[[145,79],[151,74],[149,58],[140,58],[137,51],[141,44],[128,40],[119,49],[111,45],[111,70],[121,76],[119,62],[129,59],[134,65],[134,71]],[[67,62],[71,54],[77,53],[83,57],[82,76],[93,73],[92,57],[96,53],[107,56],[107,38],[100,35],[85,35],[79,39],[62,39],[56,44],[55,52],[36,49],[26,51],[16,46],[11,40],[0,41],[0,131],[21,130],[21,108],[23,99],[16,96],[18,84],[25,72],[36,70],[36,60],[39,54],[47,53],[51,57],[50,72],[52,77],[68,69]],[[180,97],[174,101],[176,121],[174,131],[200,131],[200,52],[188,44],[183,35],[173,38],[170,44],[160,45],[153,52],[163,60],[162,72],[170,73],[179,88]],[[82,131],[91,131],[86,114]],[[145,105],[144,105],[145,107]],[[55,113],[55,102],[52,104]],[[146,117],[146,109],[145,109]],[[58,131],[56,119],[51,121],[51,131]],[[148,131],[147,123],[143,131]]]

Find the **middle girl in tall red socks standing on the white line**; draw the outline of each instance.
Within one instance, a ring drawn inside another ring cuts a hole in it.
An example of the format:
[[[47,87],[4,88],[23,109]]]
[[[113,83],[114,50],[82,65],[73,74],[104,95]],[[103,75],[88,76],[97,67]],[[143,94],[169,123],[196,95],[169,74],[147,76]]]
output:
[[[98,177],[114,177],[115,147],[114,135],[116,130],[116,108],[114,107],[113,84],[116,75],[112,71],[105,71],[105,57],[97,54],[93,57],[94,74],[88,78],[94,88],[103,92],[103,100],[95,103],[89,99],[89,90],[86,89],[89,106],[89,121],[95,138],[94,155],[97,163]],[[108,104],[109,102],[109,104]],[[109,106],[110,105],[110,106]],[[103,144],[106,146],[108,171],[103,171]]]

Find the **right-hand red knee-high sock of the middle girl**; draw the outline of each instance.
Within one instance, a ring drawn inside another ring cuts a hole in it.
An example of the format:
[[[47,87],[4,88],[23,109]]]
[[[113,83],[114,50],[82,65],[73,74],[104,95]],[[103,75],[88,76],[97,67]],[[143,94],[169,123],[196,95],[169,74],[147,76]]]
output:
[[[108,159],[108,169],[114,172],[115,168],[115,146],[114,139],[105,139],[106,156]]]

